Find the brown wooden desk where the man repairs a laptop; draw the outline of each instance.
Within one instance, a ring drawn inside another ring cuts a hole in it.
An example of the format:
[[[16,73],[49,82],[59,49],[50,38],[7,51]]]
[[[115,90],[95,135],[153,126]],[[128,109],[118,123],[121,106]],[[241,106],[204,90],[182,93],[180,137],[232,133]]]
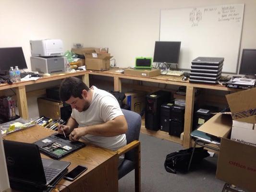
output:
[[[4,136],[4,139],[33,143],[47,137],[55,131],[38,125]],[[49,158],[41,154],[43,158]],[[85,165],[88,169],[78,179],[68,181],[62,179],[59,184],[69,187],[71,192],[117,192],[118,191],[118,155],[98,146],[87,144],[84,148],[62,158],[71,162],[69,171],[77,165]],[[62,185],[57,185],[61,192],[68,192]]]

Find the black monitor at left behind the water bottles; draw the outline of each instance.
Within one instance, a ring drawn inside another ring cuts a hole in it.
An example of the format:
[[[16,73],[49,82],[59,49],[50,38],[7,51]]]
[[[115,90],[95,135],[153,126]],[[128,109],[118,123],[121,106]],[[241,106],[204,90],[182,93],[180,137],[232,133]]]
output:
[[[14,69],[15,66],[27,69],[22,47],[0,48],[0,72],[9,71],[10,67]]]

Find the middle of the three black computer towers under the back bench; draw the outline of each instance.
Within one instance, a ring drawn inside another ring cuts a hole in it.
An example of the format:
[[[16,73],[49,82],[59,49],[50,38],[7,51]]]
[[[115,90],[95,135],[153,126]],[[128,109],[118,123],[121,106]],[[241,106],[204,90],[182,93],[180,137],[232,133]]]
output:
[[[171,125],[171,108],[173,104],[167,103],[161,105],[160,130],[169,132]]]

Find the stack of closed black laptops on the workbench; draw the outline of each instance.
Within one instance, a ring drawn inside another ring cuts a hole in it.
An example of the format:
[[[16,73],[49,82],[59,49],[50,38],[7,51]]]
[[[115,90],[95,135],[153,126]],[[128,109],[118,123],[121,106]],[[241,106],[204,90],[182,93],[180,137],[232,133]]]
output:
[[[198,57],[192,61],[189,82],[217,84],[222,72],[224,58]]]

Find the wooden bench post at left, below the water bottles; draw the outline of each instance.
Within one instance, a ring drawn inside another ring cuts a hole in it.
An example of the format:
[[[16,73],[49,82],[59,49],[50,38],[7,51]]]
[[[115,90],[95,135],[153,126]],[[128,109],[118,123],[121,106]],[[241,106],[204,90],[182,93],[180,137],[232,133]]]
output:
[[[27,120],[28,119],[28,109],[27,109],[27,98],[25,86],[19,86],[16,88],[17,102],[19,108],[19,115]]]

